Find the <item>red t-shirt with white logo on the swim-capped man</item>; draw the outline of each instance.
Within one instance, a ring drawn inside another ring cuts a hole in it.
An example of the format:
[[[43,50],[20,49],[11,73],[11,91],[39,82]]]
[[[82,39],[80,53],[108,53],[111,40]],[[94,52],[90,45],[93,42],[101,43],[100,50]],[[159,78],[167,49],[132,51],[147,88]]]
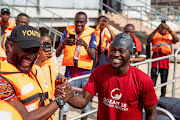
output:
[[[84,90],[98,92],[98,120],[142,120],[143,106],[157,103],[151,78],[130,66],[125,75],[117,75],[110,64],[97,67]]]

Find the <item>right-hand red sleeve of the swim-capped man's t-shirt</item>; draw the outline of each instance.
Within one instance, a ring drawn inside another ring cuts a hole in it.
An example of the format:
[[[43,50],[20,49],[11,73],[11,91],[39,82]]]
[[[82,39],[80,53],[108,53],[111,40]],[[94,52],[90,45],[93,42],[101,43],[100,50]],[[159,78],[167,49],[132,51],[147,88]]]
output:
[[[141,101],[144,107],[155,105],[158,102],[153,81],[149,76],[143,80]]]

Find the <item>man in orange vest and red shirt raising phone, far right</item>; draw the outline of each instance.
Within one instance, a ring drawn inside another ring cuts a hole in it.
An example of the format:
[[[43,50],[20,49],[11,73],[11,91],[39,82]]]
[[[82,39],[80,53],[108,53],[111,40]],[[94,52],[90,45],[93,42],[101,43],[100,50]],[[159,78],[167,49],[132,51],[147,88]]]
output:
[[[152,58],[163,57],[171,54],[171,44],[179,41],[176,33],[162,20],[161,24],[148,36],[147,43],[152,42]],[[157,52],[158,51],[158,52]],[[167,82],[169,70],[169,58],[152,62],[151,78],[156,85],[158,74],[161,74],[161,83]],[[161,96],[165,97],[166,86],[161,88]]]

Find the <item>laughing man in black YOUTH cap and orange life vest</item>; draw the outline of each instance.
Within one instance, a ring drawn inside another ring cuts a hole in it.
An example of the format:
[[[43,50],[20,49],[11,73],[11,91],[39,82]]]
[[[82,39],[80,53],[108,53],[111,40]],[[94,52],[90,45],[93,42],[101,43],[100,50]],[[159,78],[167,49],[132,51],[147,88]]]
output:
[[[62,107],[59,97],[50,103],[43,73],[34,65],[40,46],[40,31],[19,25],[8,41],[6,62],[0,61],[0,100],[17,109],[24,120],[52,120],[53,113]]]

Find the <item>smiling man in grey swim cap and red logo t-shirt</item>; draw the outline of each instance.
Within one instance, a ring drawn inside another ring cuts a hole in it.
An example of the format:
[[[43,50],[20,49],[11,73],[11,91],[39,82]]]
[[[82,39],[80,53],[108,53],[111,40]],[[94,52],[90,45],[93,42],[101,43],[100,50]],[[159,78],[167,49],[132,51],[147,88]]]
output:
[[[73,96],[69,84],[65,89],[68,102],[83,108],[98,92],[98,120],[142,120],[145,109],[146,120],[156,120],[156,103],[151,78],[131,66],[133,51],[131,36],[120,33],[113,39],[108,58],[111,64],[98,66],[84,86],[83,91]]]

